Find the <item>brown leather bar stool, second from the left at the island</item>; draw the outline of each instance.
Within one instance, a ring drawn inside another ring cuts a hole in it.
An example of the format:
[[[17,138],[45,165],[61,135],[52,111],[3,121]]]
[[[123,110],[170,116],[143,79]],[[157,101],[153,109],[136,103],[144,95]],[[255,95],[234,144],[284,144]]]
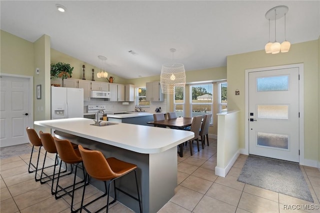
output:
[[[39,131],[39,135],[40,135],[40,138],[41,138],[42,146],[45,149],[43,165],[42,165],[42,170],[41,170],[41,175],[40,175],[40,183],[43,184],[43,183],[51,180],[52,181],[52,183],[51,183],[51,194],[53,195],[55,193],[53,191],[53,181],[56,178],[56,177],[54,177],[54,175],[55,175],[55,166],[58,164],[58,152],[56,150],[53,137],[52,137],[52,135],[50,133],[45,133],[45,132],[42,132],[40,130]],[[55,153],[53,174],[51,174],[51,175],[48,175],[43,171],[47,152]],[[65,170],[62,171],[62,172],[66,172],[66,171],[67,171],[67,166],[66,166],[66,163],[65,163]],[[68,173],[65,173],[64,175],[70,174],[71,172],[72,172],[72,167],[71,167],[71,171],[69,171]],[[44,175],[44,177],[42,177],[43,175]],[[48,179],[47,180],[43,180],[46,177]]]

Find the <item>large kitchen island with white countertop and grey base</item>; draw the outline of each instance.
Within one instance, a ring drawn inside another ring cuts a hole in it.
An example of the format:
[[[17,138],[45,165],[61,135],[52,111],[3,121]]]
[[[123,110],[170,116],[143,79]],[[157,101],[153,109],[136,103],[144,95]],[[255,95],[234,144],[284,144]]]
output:
[[[157,212],[174,195],[177,185],[177,145],[192,138],[193,132],[128,123],[90,125],[93,123],[87,118],[34,121],[36,125],[55,129],[59,138],[100,150],[105,157],[113,156],[136,164],[142,209],[144,212]],[[133,176],[127,175],[118,183],[134,194],[133,181]],[[103,190],[102,182],[93,180],[91,184]],[[121,193],[117,198],[138,211],[135,200]]]

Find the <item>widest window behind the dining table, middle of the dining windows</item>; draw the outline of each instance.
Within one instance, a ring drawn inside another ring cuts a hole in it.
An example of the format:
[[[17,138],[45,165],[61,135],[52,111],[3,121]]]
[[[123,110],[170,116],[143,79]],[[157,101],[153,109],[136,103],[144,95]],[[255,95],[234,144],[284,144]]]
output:
[[[212,87],[212,83],[190,85],[191,116],[212,114]]]

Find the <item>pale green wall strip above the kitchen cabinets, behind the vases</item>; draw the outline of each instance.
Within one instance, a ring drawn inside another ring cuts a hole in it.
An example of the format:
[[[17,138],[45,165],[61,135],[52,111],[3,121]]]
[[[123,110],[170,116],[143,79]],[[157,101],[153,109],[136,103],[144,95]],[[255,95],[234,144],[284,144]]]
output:
[[[98,61],[98,57],[96,55],[96,61]],[[51,48],[51,63],[56,63],[56,62],[65,62],[69,63],[71,67],[73,66],[73,71],[72,71],[72,78],[76,79],[82,79],[82,65],[84,64],[84,76],[86,80],[91,80],[92,79],[92,69],[94,69],[94,80],[95,81],[103,81],[103,82],[108,82],[107,79],[104,77],[97,78],[96,73],[98,72],[98,67],[93,66],[85,61],[79,60],[77,58],[71,57],[67,54],[64,54],[62,52],[59,52],[55,49]],[[108,77],[113,76],[115,78],[114,83],[121,83],[125,84],[126,79],[117,76],[114,73],[108,72]]]

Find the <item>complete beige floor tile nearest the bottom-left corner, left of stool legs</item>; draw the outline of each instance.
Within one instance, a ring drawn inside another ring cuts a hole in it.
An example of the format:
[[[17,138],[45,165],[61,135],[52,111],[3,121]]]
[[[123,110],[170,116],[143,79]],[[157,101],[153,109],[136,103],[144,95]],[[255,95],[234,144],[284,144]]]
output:
[[[13,196],[13,199],[18,208],[23,209],[51,196],[50,187],[46,184],[43,184],[41,187],[37,187],[34,190]]]

